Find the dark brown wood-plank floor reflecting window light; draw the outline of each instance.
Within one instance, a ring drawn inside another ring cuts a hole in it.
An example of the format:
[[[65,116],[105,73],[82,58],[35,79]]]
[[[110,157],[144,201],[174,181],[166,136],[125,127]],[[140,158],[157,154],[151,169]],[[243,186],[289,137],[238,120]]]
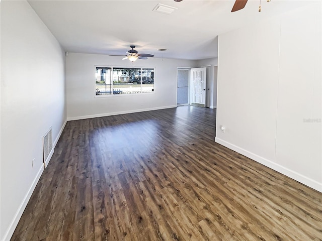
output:
[[[214,142],[193,106],[72,121],[11,240],[322,240],[322,194]]]

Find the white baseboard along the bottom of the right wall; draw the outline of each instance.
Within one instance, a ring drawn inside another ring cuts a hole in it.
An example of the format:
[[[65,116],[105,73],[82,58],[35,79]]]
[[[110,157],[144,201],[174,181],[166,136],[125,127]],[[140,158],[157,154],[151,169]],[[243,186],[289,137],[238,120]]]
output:
[[[264,166],[267,166],[267,167],[269,167],[269,168],[271,168],[271,169],[273,169],[273,170],[275,170],[275,171],[277,171],[279,173],[282,173],[285,176],[288,176],[288,177],[290,177],[290,178],[292,178],[292,179],[294,179],[294,180],[296,180],[296,181],[298,181],[300,183],[303,183],[306,186],[309,186],[309,187],[311,187],[311,188],[313,188],[313,189],[315,189],[315,190],[317,190],[319,192],[322,192],[322,183],[319,183],[319,182],[317,182],[317,181],[315,181],[315,180],[313,180],[313,179],[311,179],[309,177],[306,177],[306,176],[304,176],[304,175],[302,175],[300,173],[294,172],[294,171],[292,171],[292,170],[290,170],[290,169],[288,169],[286,167],[283,167],[283,166],[281,166],[281,165],[279,165],[279,164],[277,164],[275,162],[272,162],[272,161],[270,161],[270,160],[268,160],[266,158],[263,158],[261,156],[258,156],[258,155],[254,154],[252,152],[249,152],[249,151],[247,151],[247,150],[245,150],[243,148],[237,147],[237,146],[235,146],[235,145],[233,145],[231,143],[223,141],[223,140],[221,140],[221,139],[219,139],[217,137],[215,138],[215,142],[219,143],[220,145],[222,145],[224,147],[227,147],[227,148],[229,148],[229,149],[231,149],[231,150],[233,150],[235,152],[238,152],[241,155],[244,155],[244,156],[246,156],[248,158],[251,158],[252,160],[257,161],[257,162],[263,164]]]

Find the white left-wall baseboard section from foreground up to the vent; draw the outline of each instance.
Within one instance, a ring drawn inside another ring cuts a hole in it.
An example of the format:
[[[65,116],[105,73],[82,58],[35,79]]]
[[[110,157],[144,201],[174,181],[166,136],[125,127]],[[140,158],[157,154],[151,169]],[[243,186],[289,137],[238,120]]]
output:
[[[40,169],[39,169],[39,171],[38,171],[38,173],[37,173],[37,175],[35,177],[35,179],[33,180],[32,184],[31,184],[31,187],[29,188],[26,196],[24,197],[23,201],[21,202],[21,204],[20,204],[20,206],[19,206],[14,218],[12,219],[12,221],[11,221],[11,223],[10,223],[8,229],[7,229],[7,232],[2,237],[3,239],[1,239],[1,240],[3,240],[3,241],[5,241],[5,240],[9,241],[10,240],[12,234],[14,233],[14,231],[15,231],[17,225],[18,225],[18,222],[19,222],[23,212],[25,211],[27,203],[28,203],[28,201],[29,201],[29,199],[31,197],[31,194],[33,193],[33,191],[34,191],[34,189],[35,189],[35,187],[36,187],[36,185],[37,185],[37,183],[39,181],[39,178],[40,178],[40,176],[41,176],[43,171],[44,171],[44,166],[41,165]]]

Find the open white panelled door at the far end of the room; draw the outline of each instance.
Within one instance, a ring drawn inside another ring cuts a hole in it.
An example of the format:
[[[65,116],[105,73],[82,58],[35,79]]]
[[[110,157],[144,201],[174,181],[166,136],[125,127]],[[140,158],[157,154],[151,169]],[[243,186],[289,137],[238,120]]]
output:
[[[190,104],[206,107],[206,68],[190,71]]]

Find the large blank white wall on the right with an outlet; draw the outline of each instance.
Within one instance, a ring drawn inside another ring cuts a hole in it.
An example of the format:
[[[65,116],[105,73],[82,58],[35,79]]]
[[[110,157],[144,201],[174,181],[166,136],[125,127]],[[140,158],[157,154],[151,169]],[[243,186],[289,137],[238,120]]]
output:
[[[216,127],[216,142],[319,191],[321,41],[321,2],[220,35]]]

